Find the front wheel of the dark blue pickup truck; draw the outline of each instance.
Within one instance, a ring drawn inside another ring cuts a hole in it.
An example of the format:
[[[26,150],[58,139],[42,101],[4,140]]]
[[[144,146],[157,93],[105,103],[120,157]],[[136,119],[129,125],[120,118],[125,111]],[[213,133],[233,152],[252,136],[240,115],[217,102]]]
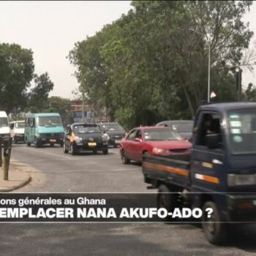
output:
[[[213,209],[211,217],[209,218],[207,217],[207,208]],[[211,244],[223,244],[225,242],[227,224],[221,223],[221,221],[216,203],[207,201],[203,205],[202,226],[206,238]]]

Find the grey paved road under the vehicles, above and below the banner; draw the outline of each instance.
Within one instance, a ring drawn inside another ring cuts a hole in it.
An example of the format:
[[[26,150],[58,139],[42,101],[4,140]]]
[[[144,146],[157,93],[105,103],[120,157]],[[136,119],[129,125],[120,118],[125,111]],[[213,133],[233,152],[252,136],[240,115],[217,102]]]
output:
[[[146,192],[140,165],[122,165],[116,149],[71,156],[19,145],[12,157],[44,177],[20,192]],[[227,246],[213,246],[195,225],[4,224],[0,255],[256,255],[256,227],[234,233]]]

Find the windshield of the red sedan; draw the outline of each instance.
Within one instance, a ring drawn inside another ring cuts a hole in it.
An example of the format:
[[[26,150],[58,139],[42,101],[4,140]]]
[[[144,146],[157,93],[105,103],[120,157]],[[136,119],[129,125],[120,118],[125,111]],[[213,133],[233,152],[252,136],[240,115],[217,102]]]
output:
[[[144,140],[182,140],[172,129],[146,129]]]

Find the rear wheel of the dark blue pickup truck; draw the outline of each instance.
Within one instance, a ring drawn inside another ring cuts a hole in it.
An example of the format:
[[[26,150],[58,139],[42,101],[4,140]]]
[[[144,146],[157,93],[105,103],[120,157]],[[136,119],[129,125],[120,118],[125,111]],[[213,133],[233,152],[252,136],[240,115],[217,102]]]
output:
[[[161,185],[158,189],[157,208],[166,208],[168,212],[172,212],[177,205],[177,194],[172,193],[167,186]],[[164,220],[170,222],[171,217],[167,216]]]

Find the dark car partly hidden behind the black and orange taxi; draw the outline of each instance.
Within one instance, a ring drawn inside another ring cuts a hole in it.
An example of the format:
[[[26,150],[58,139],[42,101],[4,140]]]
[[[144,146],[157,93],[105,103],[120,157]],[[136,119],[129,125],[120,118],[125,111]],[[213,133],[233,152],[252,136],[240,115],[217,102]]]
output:
[[[113,146],[114,148],[119,146],[121,139],[124,138],[124,135],[126,134],[124,128],[117,122],[99,123],[98,125],[99,129],[110,137],[108,145]]]

